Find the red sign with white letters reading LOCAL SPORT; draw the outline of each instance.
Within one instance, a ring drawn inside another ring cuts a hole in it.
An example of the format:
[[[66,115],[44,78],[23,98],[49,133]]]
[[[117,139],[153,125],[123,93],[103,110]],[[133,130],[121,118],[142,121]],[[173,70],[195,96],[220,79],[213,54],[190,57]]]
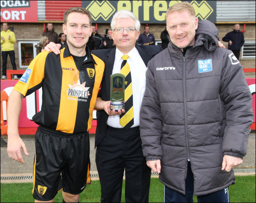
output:
[[[38,1],[0,1],[1,22],[38,22]]]

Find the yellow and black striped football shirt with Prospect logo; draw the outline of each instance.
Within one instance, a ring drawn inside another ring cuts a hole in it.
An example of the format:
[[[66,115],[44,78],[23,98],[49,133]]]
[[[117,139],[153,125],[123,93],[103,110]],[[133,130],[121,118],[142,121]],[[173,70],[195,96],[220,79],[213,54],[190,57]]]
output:
[[[91,128],[92,112],[105,69],[104,62],[90,54],[80,67],[68,45],[41,52],[28,66],[14,89],[27,96],[42,87],[41,111],[34,115],[38,125],[64,133],[83,133]]]

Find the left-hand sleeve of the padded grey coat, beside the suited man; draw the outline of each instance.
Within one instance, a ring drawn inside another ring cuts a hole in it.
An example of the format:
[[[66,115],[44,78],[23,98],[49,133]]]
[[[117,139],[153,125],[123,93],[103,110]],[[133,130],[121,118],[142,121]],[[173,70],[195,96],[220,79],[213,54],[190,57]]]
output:
[[[162,157],[162,115],[160,99],[154,78],[154,65],[148,63],[146,72],[146,89],[143,96],[139,127],[142,141],[143,155],[147,160],[157,160]]]

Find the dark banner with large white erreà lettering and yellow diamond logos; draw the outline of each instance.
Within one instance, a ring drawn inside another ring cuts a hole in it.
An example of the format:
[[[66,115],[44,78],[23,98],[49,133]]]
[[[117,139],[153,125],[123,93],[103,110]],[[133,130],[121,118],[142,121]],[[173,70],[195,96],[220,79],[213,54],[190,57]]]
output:
[[[141,23],[166,23],[167,9],[178,2],[181,1],[82,0],[82,7],[90,12],[94,23],[110,23],[113,15],[120,10],[132,11]],[[195,8],[197,18],[216,22],[216,1],[192,0],[188,2]]]

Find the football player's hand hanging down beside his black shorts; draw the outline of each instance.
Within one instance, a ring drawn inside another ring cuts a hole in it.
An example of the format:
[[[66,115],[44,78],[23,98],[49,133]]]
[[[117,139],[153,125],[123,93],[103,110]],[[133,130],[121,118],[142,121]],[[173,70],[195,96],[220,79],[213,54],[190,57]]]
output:
[[[23,149],[24,154],[28,156],[29,154],[26,150],[26,145],[24,144],[23,140],[19,136],[8,136],[7,153],[9,158],[14,159],[17,162],[24,163],[23,157],[21,155],[21,148]]]

